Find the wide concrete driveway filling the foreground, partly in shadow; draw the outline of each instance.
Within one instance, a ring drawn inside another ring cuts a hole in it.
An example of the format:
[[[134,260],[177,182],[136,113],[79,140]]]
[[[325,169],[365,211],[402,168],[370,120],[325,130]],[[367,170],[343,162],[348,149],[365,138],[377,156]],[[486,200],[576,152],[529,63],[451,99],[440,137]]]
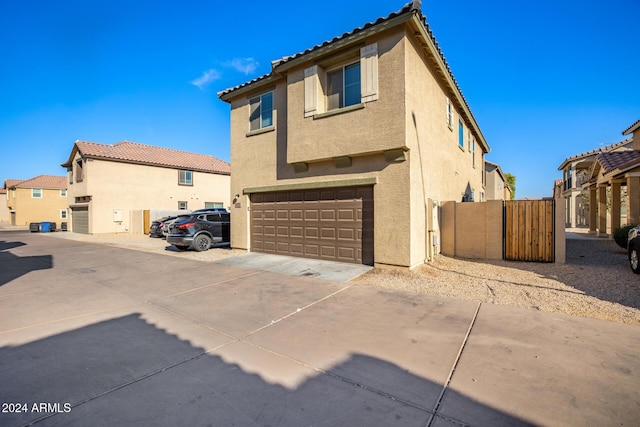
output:
[[[0,425],[638,425],[640,329],[0,232]]]

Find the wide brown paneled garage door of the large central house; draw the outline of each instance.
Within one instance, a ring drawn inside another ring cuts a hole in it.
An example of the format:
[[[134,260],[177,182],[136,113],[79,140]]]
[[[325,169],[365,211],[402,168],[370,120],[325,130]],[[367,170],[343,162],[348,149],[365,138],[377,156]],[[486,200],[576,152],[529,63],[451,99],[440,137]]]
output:
[[[373,264],[373,187],[251,195],[251,250]]]

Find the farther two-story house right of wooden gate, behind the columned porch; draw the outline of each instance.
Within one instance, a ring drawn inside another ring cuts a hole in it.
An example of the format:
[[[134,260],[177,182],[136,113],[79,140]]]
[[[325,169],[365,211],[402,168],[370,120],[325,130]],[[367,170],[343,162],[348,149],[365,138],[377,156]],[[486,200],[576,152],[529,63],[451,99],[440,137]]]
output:
[[[566,227],[588,227],[590,224],[589,194],[583,184],[589,180],[589,173],[596,157],[601,153],[617,153],[632,150],[632,140],[607,145],[567,157],[558,170],[562,171],[562,198],[565,199]]]

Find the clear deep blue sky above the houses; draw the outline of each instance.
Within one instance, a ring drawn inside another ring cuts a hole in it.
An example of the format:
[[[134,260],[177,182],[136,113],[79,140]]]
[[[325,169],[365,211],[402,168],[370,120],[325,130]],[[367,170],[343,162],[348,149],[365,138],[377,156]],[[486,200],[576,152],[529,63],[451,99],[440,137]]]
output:
[[[0,4],[0,180],[64,175],[77,139],[229,161],[216,92],[403,1],[61,1]],[[640,119],[638,0],[423,2],[517,197],[550,196],[568,156]]]

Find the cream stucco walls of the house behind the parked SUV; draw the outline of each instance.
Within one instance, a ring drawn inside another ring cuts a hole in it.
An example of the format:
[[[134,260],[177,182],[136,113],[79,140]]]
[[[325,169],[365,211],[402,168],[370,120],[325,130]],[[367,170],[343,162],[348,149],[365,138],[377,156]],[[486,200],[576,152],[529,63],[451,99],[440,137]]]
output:
[[[139,232],[132,225],[140,222],[137,216],[144,209],[178,209],[179,201],[186,201],[189,210],[202,209],[205,202],[229,207],[229,182],[228,175],[194,171],[192,186],[178,185],[177,169],[89,159],[83,181],[69,184],[68,203],[91,196],[91,234]]]

